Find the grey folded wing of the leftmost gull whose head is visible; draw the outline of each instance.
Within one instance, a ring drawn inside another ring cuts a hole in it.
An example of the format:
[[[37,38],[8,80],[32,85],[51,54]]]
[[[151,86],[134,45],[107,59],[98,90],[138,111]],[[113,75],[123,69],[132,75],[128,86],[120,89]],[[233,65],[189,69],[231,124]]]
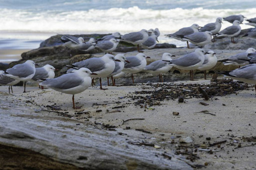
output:
[[[30,65],[26,65],[26,63],[24,63],[15,65],[13,66],[13,68],[7,69],[6,72],[14,76],[23,78],[28,75],[34,74],[34,69]]]

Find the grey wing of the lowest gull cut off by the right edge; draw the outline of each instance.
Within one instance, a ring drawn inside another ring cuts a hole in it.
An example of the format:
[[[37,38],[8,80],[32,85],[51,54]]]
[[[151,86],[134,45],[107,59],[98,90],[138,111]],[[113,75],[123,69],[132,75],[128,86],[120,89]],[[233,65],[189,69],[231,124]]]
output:
[[[237,76],[245,79],[253,79],[255,78],[256,73],[256,64],[246,65],[241,67],[240,69],[236,69],[230,71],[230,75]]]

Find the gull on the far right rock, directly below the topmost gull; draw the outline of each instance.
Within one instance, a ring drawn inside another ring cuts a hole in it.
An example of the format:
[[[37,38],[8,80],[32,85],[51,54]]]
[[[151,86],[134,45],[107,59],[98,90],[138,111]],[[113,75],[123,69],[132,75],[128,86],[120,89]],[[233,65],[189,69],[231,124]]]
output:
[[[240,24],[240,21],[234,20],[233,25],[223,29],[218,33],[217,37],[231,37],[231,42],[236,43],[234,37],[238,36],[241,32]]]

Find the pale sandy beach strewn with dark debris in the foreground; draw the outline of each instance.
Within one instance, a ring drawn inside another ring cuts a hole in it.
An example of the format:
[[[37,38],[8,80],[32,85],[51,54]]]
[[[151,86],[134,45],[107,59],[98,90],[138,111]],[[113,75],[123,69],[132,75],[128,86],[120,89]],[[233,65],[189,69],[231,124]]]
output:
[[[174,84],[209,84],[210,80],[181,81],[165,83]],[[161,83],[160,83],[161,84]],[[61,94],[51,89],[39,90],[38,87],[28,87],[28,93],[23,94],[23,87],[13,87],[14,94],[7,94],[6,86],[1,86],[1,114],[11,111],[14,105],[19,105],[16,116],[40,121],[49,120],[49,116],[62,117],[65,113],[70,118],[65,122],[75,121],[79,131],[92,124],[96,128],[110,131],[112,134],[122,134],[127,143],[154,143],[152,146],[141,146],[148,150],[157,150],[196,168],[204,169],[255,169],[255,91],[238,91],[226,96],[213,96],[208,101],[203,97],[159,101],[158,105],[135,105],[139,99],[134,99],[136,91],[158,90],[152,84],[137,84],[136,86],[108,86],[109,90],[99,90],[99,87],[89,87],[81,94],[75,95],[76,105],[80,110],[72,109],[72,96]],[[146,96],[146,95],[144,95]],[[25,105],[18,103],[26,103]],[[205,105],[200,103],[206,103]],[[208,105],[207,105],[208,104]],[[49,107],[50,106],[50,107]],[[34,111],[33,114],[22,111]],[[56,108],[57,112],[51,112]],[[19,113],[22,111],[22,113]],[[35,113],[36,111],[36,113]],[[49,112],[50,111],[50,112]],[[84,114],[78,114],[79,112]],[[179,115],[174,115],[178,112]],[[38,115],[39,117],[37,118]],[[134,119],[135,120],[129,120]],[[136,120],[143,119],[143,120]],[[54,118],[53,118],[54,120]],[[129,120],[123,122],[123,120]],[[48,122],[48,121],[47,121]],[[106,126],[108,125],[108,126]],[[61,127],[61,125],[58,125]],[[63,125],[64,127],[64,125]],[[65,129],[73,127],[65,126]],[[138,131],[138,129],[142,131]],[[181,143],[180,139],[191,137],[191,143]],[[220,142],[218,145],[210,145]],[[222,142],[222,143],[221,143]],[[200,151],[201,150],[201,151]]]

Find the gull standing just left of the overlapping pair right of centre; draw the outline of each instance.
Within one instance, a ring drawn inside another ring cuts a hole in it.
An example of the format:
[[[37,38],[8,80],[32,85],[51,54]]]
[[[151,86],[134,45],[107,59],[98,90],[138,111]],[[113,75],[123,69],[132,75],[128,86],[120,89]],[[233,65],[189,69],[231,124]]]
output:
[[[172,58],[175,57],[174,55],[170,53],[163,53],[162,59],[151,62],[149,65],[147,65],[143,71],[146,71],[147,73],[151,73],[152,75],[159,75],[159,81],[163,82],[163,73],[167,73],[169,70],[172,69],[172,66],[169,65],[169,62]],[[164,60],[164,61],[163,61]]]

